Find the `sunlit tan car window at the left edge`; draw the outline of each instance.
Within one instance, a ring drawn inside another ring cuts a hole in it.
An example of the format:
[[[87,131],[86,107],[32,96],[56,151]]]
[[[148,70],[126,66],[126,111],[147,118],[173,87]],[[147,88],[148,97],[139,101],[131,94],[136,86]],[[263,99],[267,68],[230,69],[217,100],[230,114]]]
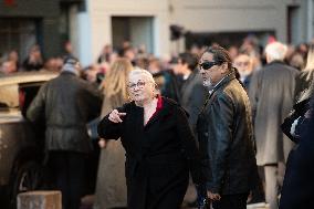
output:
[[[0,111],[19,107],[19,86],[17,84],[0,86]]]

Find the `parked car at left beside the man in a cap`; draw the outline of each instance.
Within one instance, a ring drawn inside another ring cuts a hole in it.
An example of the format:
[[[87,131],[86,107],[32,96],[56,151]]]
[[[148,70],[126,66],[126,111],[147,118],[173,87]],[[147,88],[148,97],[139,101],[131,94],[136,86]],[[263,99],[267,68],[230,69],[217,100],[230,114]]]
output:
[[[53,72],[19,72],[0,77],[1,208],[14,208],[18,194],[43,182],[44,126],[34,128],[25,112],[40,86],[56,76]]]

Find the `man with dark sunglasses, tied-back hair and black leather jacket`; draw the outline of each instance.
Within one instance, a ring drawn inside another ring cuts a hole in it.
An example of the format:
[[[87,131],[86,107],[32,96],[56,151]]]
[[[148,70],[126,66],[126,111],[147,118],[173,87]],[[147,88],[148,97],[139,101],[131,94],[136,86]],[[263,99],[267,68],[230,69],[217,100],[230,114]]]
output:
[[[258,184],[249,97],[223,48],[207,49],[199,66],[209,90],[197,122],[207,195],[214,209],[245,209]]]

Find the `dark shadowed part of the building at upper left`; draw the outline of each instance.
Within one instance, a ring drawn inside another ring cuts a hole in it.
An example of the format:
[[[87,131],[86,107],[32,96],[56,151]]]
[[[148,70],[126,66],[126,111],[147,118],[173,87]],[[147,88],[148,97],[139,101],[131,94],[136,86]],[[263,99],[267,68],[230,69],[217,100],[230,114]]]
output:
[[[84,0],[0,0],[0,53],[17,50],[23,60],[39,44],[45,58],[60,55],[70,39],[70,9],[83,4]]]

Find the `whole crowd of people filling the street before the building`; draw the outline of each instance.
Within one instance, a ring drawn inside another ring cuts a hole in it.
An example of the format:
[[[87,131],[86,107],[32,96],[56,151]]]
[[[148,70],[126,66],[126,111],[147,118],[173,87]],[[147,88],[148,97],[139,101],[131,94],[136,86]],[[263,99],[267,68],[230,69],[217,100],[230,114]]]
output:
[[[66,209],[83,195],[85,124],[96,116],[95,209],[179,208],[187,188],[203,197],[195,199],[199,206],[214,209],[259,200],[270,209],[313,205],[311,44],[271,40],[262,48],[248,36],[240,46],[193,45],[158,59],[124,42],[118,50],[105,45],[83,70],[66,49],[64,63],[44,61],[38,45],[21,64],[14,51],[0,63],[2,75],[60,72],[41,87],[28,118],[45,118],[49,166]]]

